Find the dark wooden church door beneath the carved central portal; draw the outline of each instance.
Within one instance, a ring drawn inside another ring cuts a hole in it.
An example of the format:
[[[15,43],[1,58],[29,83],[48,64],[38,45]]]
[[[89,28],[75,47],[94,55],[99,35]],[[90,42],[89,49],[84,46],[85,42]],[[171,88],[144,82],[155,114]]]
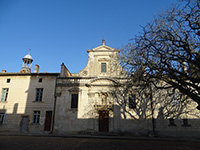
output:
[[[99,132],[109,131],[109,111],[99,111]]]

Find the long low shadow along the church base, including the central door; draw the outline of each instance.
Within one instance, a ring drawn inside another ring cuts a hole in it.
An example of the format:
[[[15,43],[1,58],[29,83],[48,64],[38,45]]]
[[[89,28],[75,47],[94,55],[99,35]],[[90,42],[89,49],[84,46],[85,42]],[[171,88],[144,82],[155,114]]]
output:
[[[115,134],[133,136],[170,136],[199,137],[200,123],[198,119],[155,119],[153,129],[152,119],[123,119],[121,108],[113,106],[113,110],[99,110],[95,118],[77,118],[76,115],[59,119],[54,133],[57,134]],[[113,117],[111,117],[113,116]],[[154,130],[154,131],[153,131]]]

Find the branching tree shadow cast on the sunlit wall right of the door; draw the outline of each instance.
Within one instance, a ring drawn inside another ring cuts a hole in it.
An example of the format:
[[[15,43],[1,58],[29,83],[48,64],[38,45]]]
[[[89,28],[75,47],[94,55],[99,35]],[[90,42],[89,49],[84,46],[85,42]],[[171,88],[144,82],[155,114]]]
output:
[[[123,119],[151,121],[148,121],[149,135],[156,135],[157,121],[160,119],[199,119],[199,111],[188,96],[174,88],[157,88],[168,87],[166,83],[155,81],[154,84],[146,86],[142,81],[132,81],[128,78],[110,93],[114,102],[120,106],[120,115]]]

